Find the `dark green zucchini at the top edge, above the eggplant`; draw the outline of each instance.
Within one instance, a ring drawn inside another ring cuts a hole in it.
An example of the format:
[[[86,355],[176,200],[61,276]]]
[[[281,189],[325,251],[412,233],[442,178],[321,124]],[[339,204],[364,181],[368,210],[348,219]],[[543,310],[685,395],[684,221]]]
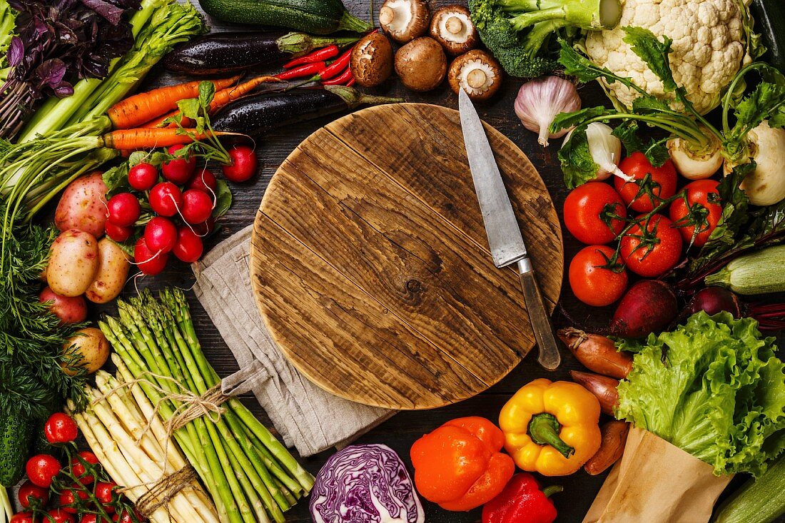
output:
[[[289,27],[314,35],[373,29],[349,14],[341,0],[199,0],[199,5],[225,22]]]

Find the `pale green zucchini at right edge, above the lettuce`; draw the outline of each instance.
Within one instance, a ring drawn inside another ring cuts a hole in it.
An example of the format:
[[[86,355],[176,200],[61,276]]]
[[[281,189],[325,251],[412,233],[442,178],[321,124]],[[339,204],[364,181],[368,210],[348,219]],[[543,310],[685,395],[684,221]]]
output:
[[[745,254],[706,276],[707,285],[727,287],[736,294],[785,292],[785,245]]]

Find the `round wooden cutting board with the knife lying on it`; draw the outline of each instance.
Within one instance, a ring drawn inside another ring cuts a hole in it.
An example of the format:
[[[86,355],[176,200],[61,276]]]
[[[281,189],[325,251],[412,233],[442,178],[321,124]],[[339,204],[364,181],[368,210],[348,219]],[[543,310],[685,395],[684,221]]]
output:
[[[556,211],[524,153],[485,129],[553,311],[564,256]],[[292,364],[363,404],[463,400],[535,345],[517,273],[491,262],[452,109],[383,105],[313,133],[265,192],[250,270]]]

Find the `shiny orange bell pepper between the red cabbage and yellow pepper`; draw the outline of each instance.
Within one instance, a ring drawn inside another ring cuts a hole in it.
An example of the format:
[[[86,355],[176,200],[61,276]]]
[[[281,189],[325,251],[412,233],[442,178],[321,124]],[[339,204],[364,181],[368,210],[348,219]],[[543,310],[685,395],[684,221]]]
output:
[[[504,434],[485,418],[453,419],[414,441],[414,485],[444,510],[472,510],[502,492],[515,464]]]

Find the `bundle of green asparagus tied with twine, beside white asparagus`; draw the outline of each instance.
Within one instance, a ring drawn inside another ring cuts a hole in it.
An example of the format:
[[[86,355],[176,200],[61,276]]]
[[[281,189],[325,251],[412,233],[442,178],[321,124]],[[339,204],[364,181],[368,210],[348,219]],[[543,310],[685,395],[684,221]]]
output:
[[[115,349],[128,379],[159,406],[164,421],[181,412],[186,391],[203,396],[221,379],[207,362],[185,296],[149,291],[118,302],[118,316],[99,327]],[[179,395],[173,397],[172,395]],[[239,400],[230,397],[221,415],[203,415],[173,437],[199,473],[225,523],[276,521],[308,494],[313,477]]]

